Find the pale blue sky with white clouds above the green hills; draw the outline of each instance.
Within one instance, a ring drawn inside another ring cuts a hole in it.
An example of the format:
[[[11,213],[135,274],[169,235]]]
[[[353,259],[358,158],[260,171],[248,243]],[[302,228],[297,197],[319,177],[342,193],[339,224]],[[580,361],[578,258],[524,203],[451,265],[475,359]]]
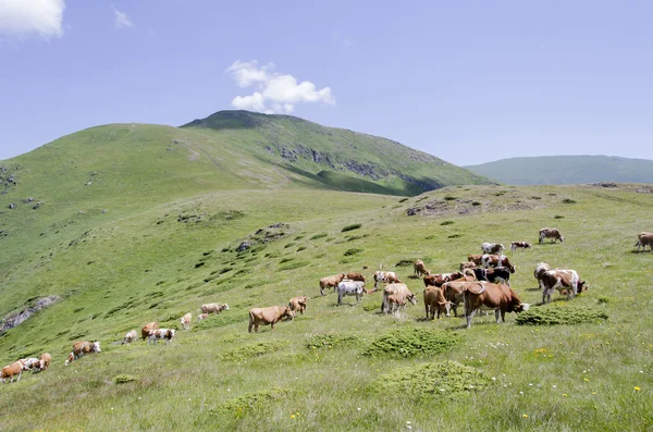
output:
[[[456,164],[653,159],[651,16],[650,1],[2,0],[0,159],[234,108]]]

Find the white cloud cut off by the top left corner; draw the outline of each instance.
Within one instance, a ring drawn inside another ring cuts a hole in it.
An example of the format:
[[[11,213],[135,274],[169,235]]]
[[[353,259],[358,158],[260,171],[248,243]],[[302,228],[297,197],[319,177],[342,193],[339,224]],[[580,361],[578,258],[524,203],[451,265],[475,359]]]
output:
[[[0,0],[0,34],[61,37],[64,9],[63,0]]]

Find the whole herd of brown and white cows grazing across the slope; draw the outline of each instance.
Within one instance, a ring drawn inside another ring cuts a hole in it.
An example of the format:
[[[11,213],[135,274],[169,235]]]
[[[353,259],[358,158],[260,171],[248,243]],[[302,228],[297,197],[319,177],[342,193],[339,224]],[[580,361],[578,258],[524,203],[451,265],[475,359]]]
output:
[[[551,242],[559,240],[563,243],[565,237],[556,229],[540,230],[540,243],[545,238]],[[640,233],[638,235],[638,251],[640,247],[646,250],[646,246],[653,250],[653,233]],[[513,242],[510,250],[529,249],[532,246],[526,242]],[[505,322],[506,312],[521,312],[528,310],[529,305],[522,303],[517,294],[510,287],[510,274],[515,273],[513,266],[503,251],[502,244],[483,243],[481,255],[470,255],[466,262],[460,263],[458,271],[451,273],[432,274],[427,270],[424,262],[417,260],[414,264],[414,276],[422,277],[424,283],[423,301],[428,320],[433,320],[435,314],[438,319],[444,313],[449,317],[449,311],[454,310],[454,316],[458,316],[457,307],[463,303],[467,328],[471,326],[471,320],[478,310],[494,310],[496,322]],[[551,295],[554,289],[560,294],[567,295],[567,299],[588,289],[584,281],[580,280],[576,270],[554,269],[541,262],[537,266],[534,277],[538,280],[542,289],[542,304],[551,301]],[[340,273],[320,280],[320,294],[323,296],[326,289],[333,288],[337,292],[337,306],[342,304],[345,296],[356,296],[356,303],[360,301],[365,294],[373,294],[379,291],[379,286],[384,284],[383,298],[381,303],[382,313],[396,313],[401,308],[406,307],[408,303],[417,305],[417,296],[408,289],[408,286],[399,281],[395,272],[375,271],[373,274],[373,289],[366,289],[366,277],[361,273],[349,272]],[[270,325],[283,319],[293,320],[296,312],[304,313],[306,310],[306,296],[294,297],[287,306],[271,306],[268,308],[252,308],[249,310],[248,332],[254,329],[258,332],[260,324]],[[229,305],[207,304],[201,306],[201,312],[198,316],[198,322],[209,317],[210,313],[218,314],[229,310]],[[180,321],[184,330],[190,329],[193,314],[184,314]],[[147,340],[148,344],[157,344],[158,341],[170,341],[175,336],[175,329],[159,329],[158,322],[150,322],[140,329],[140,337]],[[137,338],[137,333],[132,330],[125,334],[123,344],[132,343]],[[76,342],[73,344],[73,350],[65,360],[65,366],[71,361],[88,354],[100,353],[100,342]],[[21,379],[23,371],[40,372],[48,369],[51,356],[44,353],[40,358],[19,359],[2,369],[1,381],[4,382],[14,377]]]

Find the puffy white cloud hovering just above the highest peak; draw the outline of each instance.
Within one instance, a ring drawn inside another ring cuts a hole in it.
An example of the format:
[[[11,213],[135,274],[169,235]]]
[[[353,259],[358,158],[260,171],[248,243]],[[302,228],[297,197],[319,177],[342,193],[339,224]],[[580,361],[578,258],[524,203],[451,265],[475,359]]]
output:
[[[225,72],[231,73],[239,87],[256,89],[250,96],[236,96],[232,100],[232,106],[239,110],[289,114],[297,103],[335,104],[331,88],[318,90],[309,81],[297,83],[293,75],[275,73],[273,63],[259,67],[256,60],[236,60]]]

